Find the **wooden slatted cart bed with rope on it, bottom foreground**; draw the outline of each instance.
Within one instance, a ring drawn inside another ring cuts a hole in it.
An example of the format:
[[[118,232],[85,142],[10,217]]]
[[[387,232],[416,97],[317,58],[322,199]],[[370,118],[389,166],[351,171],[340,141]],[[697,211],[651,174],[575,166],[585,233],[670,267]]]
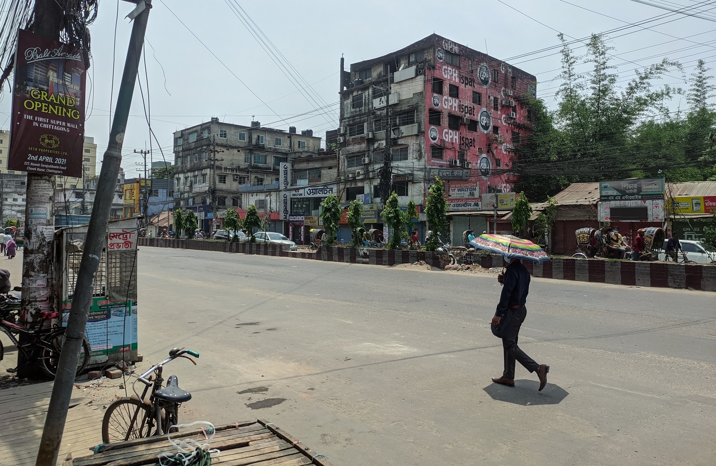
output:
[[[192,438],[197,442],[205,439],[201,430],[187,430],[173,434],[172,438]],[[221,466],[331,466],[324,455],[263,420],[216,427],[210,447],[221,450],[218,459],[212,461]],[[157,455],[174,452],[175,448],[163,436],[110,443],[97,450],[95,455],[68,457],[62,466],[153,466],[157,464]]]

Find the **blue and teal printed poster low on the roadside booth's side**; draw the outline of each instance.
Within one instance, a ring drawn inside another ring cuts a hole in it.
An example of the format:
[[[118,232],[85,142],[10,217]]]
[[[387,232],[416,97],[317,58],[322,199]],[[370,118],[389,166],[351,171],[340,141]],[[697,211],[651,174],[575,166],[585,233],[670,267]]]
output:
[[[72,299],[62,303],[62,324],[67,325]],[[137,300],[92,298],[84,334],[91,349],[89,364],[107,362],[112,355],[137,351]],[[112,358],[121,359],[121,358]]]

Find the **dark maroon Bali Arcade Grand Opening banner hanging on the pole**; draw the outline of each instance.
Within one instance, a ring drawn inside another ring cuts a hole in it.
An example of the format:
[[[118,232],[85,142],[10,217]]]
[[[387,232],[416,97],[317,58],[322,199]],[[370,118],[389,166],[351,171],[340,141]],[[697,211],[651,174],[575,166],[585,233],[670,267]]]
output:
[[[82,177],[84,53],[20,30],[14,71],[7,168]]]

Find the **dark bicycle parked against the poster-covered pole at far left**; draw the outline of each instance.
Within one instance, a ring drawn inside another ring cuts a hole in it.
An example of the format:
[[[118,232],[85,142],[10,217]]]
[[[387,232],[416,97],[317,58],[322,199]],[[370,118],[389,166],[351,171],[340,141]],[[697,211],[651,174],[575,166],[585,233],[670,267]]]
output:
[[[0,332],[6,334],[10,341],[15,345],[17,350],[24,355],[25,360],[29,362],[38,362],[42,371],[48,377],[57,375],[57,365],[59,363],[59,355],[62,353],[62,345],[64,344],[65,329],[55,324],[46,327],[49,320],[59,317],[59,312],[44,311],[40,314],[40,319],[32,327],[26,329],[9,319],[14,313],[14,304],[7,305],[8,302],[0,304]],[[20,344],[19,339],[15,335],[24,334],[27,342]],[[89,342],[85,338],[82,342],[82,349],[79,351],[79,360],[77,361],[77,372],[79,376],[87,369],[89,364]],[[0,361],[3,360],[5,349],[0,342]]]

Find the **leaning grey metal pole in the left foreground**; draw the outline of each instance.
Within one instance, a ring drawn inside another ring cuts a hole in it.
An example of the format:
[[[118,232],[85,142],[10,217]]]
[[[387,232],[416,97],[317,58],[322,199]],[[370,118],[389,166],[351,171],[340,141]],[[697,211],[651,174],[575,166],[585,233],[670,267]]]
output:
[[[40,11],[42,11],[43,7],[48,9],[52,7],[52,11],[58,11],[57,20],[59,21],[61,16],[59,15],[56,1],[36,0],[36,2],[36,19],[38,6],[44,4],[45,6],[40,7]],[[137,0],[136,3],[137,6],[128,15],[130,19],[134,20],[134,23],[132,24],[132,35],[130,36],[129,49],[127,50],[125,69],[122,73],[120,91],[117,95],[117,106],[115,107],[115,117],[112,121],[107,151],[102,159],[95,208],[92,209],[92,217],[89,219],[89,226],[87,227],[87,239],[84,242],[82,262],[79,264],[77,284],[74,287],[72,309],[69,312],[62,353],[57,364],[57,377],[55,377],[52,397],[50,397],[49,407],[47,407],[47,417],[45,418],[42,441],[37,452],[35,466],[53,466],[57,462],[59,443],[62,441],[64,422],[67,420],[69,400],[72,397],[72,387],[75,372],[77,372],[77,360],[79,360],[79,351],[84,340],[84,327],[87,324],[89,305],[92,302],[92,282],[100,265],[102,248],[105,246],[107,222],[110,219],[112,199],[115,196],[117,177],[122,163],[122,142],[125,139],[127,119],[129,119],[132,95],[137,81],[137,69],[147,29],[147,19],[149,19],[149,11],[152,7],[152,0]],[[53,177],[50,178],[52,179]],[[52,199],[54,199],[54,196]],[[49,258],[51,257],[52,255],[49,254]]]

